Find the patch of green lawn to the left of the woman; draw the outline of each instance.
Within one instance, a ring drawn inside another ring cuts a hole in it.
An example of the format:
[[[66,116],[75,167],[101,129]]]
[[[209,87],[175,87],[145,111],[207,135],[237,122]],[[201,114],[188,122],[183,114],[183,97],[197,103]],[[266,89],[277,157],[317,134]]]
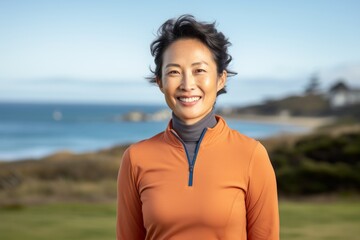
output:
[[[2,240],[115,239],[114,204],[46,204],[0,209]]]

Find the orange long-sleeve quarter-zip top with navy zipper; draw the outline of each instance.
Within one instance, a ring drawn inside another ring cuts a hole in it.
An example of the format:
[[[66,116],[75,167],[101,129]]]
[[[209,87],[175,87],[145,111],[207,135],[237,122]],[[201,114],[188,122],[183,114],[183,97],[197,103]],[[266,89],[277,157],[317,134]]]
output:
[[[193,163],[171,121],[125,151],[118,240],[279,239],[276,180],[265,148],[216,118]]]

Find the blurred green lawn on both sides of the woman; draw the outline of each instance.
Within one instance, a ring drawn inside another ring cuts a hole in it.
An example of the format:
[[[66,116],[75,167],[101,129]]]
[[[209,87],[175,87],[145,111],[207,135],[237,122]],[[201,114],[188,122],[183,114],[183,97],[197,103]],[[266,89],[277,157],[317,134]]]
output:
[[[0,239],[115,239],[115,203],[0,209]],[[359,239],[360,203],[280,203],[281,239]]]

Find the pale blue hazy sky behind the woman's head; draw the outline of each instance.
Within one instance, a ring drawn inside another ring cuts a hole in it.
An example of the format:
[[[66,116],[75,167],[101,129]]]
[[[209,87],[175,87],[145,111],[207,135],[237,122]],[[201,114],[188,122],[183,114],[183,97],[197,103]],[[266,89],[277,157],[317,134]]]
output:
[[[0,1],[0,102],[163,103],[145,80],[169,18],[216,21],[232,43],[228,94],[246,104],[360,85],[360,1]]]

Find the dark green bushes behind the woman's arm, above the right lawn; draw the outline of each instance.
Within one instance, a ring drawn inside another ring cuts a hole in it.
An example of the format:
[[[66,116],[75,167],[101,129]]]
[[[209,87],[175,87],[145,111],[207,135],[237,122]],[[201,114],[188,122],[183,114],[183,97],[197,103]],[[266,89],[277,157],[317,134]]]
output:
[[[283,195],[360,192],[360,133],[305,137],[269,155]]]

